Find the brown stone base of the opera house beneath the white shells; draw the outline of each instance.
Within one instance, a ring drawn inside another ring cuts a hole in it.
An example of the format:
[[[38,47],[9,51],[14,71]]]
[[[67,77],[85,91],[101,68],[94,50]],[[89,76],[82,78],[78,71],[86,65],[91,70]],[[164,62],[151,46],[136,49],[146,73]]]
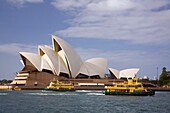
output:
[[[113,82],[124,82],[124,80],[121,79],[66,78],[48,72],[22,72],[17,74],[15,80],[12,82],[12,86],[17,86],[21,90],[43,90],[54,80],[59,80],[63,83],[72,83],[75,86],[75,90],[104,90],[105,85],[113,85]],[[81,83],[84,83],[84,85],[80,85]]]

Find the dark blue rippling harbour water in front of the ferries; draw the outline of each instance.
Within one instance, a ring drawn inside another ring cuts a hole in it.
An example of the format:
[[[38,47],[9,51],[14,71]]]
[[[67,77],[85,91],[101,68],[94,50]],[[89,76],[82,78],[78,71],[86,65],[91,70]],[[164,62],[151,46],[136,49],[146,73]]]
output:
[[[101,91],[0,91],[0,113],[170,113],[170,92],[137,97]]]

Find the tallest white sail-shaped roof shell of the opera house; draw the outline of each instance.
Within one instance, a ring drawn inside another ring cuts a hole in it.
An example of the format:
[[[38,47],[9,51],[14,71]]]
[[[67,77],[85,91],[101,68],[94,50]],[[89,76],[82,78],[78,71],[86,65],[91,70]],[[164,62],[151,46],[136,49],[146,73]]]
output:
[[[63,61],[66,63],[69,69],[69,74],[71,77],[76,77],[80,66],[82,64],[80,56],[77,52],[70,46],[67,42],[52,35],[53,49],[56,52],[63,50],[64,55],[62,57]]]

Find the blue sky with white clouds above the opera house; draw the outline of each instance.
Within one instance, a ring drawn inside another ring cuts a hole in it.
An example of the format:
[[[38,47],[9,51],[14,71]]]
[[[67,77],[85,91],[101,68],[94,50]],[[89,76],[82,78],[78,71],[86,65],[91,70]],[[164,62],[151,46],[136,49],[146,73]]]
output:
[[[51,46],[52,34],[107,68],[170,71],[170,0],[0,0],[0,79],[14,79],[19,52]]]

